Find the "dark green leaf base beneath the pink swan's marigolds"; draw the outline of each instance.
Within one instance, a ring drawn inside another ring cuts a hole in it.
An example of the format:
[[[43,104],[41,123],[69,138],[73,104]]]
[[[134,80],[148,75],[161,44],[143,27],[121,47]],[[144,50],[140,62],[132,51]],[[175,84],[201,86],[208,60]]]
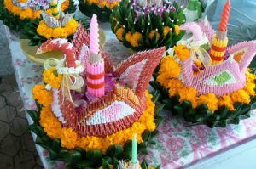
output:
[[[155,70],[155,76],[158,70]],[[150,82],[154,87],[154,93],[159,93],[161,103],[164,104],[166,110],[171,110],[172,115],[182,116],[185,121],[189,122],[189,126],[207,125],[208,127],[227,127],[228,124],[239,124],[241,119],[250,117],[250,110],[256,108],[256,97],[251,98],[251,104],[236,103],[236,111],[230,111],[227,107],[221,107],[212,113],[207,108],[206,104],[194,109],[189,101],[184,101],[182,104],[178,101],[179,96],[169,97],[168,90],[161,87],[159,82]]]

